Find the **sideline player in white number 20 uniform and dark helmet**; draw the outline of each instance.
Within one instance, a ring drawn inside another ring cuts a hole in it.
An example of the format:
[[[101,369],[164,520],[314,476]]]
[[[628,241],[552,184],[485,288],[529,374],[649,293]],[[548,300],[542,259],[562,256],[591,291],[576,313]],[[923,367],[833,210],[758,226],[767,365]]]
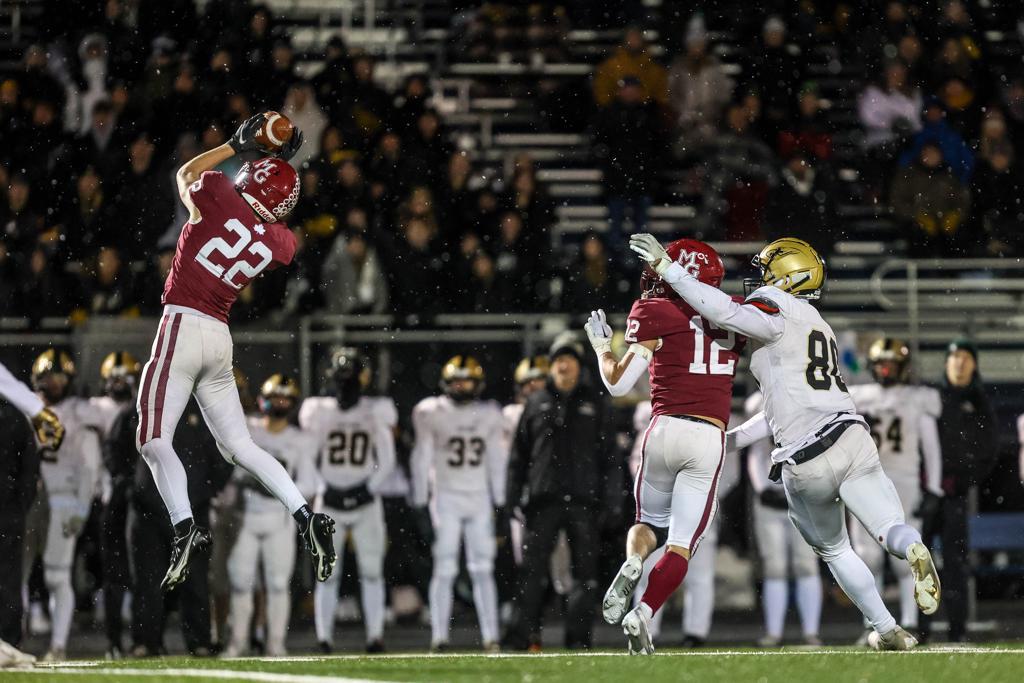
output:
[[[327,483],[324,508],[342,529],[335,536],[334,552],[342,557],[345,531],[351,531],[355,544],[367,651],[383,652],[387,528],[380,488],[395,466],[398,414],[390,398],[362,395],[370,386],[370,366],[355,349],[334,354],[327,380],[334,395],[303,401],[299,424],[316,439],[319,474]],[[325,652],[334,648],[341,573],[336,571],[313,592],[316,640]]]

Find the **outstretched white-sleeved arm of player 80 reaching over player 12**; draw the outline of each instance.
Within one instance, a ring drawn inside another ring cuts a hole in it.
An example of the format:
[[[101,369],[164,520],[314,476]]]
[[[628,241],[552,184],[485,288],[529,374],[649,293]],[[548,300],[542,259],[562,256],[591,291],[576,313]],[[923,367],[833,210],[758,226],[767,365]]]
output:
[[[706,321],[763,343],[771,343],[782,336],[784,321],[778,312],[769,313],[756,306],[736,303],[717,287],[701,283],[672,261],[654,236],[632,236],[630,249],[647,261]]]

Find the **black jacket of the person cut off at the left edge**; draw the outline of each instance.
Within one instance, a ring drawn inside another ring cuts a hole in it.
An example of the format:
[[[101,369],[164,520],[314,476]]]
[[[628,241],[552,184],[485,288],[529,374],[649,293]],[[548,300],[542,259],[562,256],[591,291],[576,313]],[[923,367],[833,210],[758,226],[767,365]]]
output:
[[[0,401],[0,518],[24,520],[36,498],[39,453],[28,420],[7,401]]]

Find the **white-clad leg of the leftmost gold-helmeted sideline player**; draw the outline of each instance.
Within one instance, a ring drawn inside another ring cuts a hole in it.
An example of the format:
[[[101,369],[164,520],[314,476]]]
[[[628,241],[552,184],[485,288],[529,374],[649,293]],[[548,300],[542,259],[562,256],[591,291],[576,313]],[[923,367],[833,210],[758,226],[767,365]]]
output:
[[[50,648],[47,659],[62,659],[68,648],[71,621],[75,613],[75,591],[71,585],[71,568],[75,559],[74,536],[65,536],[68,520],[78,514],[75,499],[50,498],[50,518],[43,550],[43,580],[50,593]]]

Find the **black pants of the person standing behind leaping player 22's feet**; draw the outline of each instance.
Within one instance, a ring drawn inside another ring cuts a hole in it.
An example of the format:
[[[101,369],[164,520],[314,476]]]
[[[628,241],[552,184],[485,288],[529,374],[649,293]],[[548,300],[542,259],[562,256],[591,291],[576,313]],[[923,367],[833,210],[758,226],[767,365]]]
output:
[[[193,518],[200,526],[209,525],[209,510],[193,508]],[[151,653],[164,649],[164,628],[170,600],[181,609],[181,631],[185,648],[191,654],[210,650],[210,554],[198,553],[188,566],[188,578],[172,592],[160,590],[171,558],[174,529],[167,513],[141,512],[132,524],[132,559],[135,565],[135,591],[132,597],[132,636],[136,646],[144,645]]]

